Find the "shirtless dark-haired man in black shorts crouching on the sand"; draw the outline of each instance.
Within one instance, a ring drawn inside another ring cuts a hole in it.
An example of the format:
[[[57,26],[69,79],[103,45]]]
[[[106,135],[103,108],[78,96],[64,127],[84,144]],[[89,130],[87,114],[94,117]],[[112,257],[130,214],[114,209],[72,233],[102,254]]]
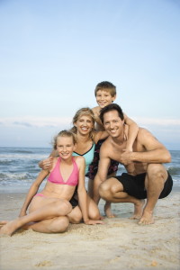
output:
[[[112,103],[101,110],[100,119],[109,137],[103,142],[100,162],[94,178],[94,201],[100,196],[108,202],[134,203],[133,219],[139,224],[154,223],[153,210],[160,198],[172,190],[173,181],[162,163],[171,162],[168,150],[148,130],[139,128],[133,152],[127,151],[128,127],[123,112]],[[110,160],[119,161],[127,173],[106,180]],[[147,198],[144,206],[144,199]]]

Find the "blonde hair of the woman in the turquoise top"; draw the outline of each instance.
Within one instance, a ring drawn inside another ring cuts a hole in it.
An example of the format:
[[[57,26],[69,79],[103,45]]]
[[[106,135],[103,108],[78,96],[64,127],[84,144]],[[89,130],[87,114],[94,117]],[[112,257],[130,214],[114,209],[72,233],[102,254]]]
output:
[[[73,132],[74,134],[76,134],[76,126],[75,126],[75,123],[76,123],[76,121],[80,118],[80,117],[82,117],[82,116],[89,116],[91,119],[92,119],[92,121],[93,121],[93,124],[94,124],[94,112],[90,109],[90,108],[88,108],[88,107],[85,107],[85,108],[81,108],[81,109],[79,109],[76,113],[75,113],[75,116],[73,117],[73,127],[72,127],[72,129],[70,130],[71,132]],[[93,127],[93,129],[91,130],[91,132],[90,132],[90,134],[89,134],[89,137],[91,138],[91,139],[94,139],[94,127]]]

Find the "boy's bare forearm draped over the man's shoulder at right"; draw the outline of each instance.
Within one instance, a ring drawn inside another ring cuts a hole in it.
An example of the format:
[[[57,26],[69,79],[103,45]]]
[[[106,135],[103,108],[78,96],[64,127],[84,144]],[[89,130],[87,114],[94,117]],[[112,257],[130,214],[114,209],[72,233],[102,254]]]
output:
[[[123,113],[123,115],[124,115],[124,122],[129,126],[126,149],[131,152],[134,140],[138,135],[139,126],[135,121],[131,120],[125,113]]]

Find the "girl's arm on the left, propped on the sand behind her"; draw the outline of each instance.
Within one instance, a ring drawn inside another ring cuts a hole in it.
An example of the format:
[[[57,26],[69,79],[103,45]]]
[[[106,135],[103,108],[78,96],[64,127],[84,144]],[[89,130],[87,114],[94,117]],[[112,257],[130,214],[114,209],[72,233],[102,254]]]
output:
[[[26,211],[28,209],[28,206],[30,205],[33,196],[37,193],[40,184],[46,178],[47,175],[49,175],[48,170],[41,170],[36,180],[31,184],[31,188],[26,195],[25,201],[23,202],[23,207],[20,211],[19,217],[23,217],[24,215],[26,215]]]

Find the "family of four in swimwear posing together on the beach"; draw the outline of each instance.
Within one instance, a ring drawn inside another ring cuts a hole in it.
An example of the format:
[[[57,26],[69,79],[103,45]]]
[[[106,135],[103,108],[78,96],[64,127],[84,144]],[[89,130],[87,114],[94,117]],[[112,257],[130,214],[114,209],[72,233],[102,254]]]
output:
[[[29,228],[64,232],[69,222],[102,224],[100,198],[108,218],[114,217],[111,202],[131,202],[132,219],[140,225],[154,223],[157,200],[172,190],[172,177],[163,165],[171,162],[171,155],[113,103],[116,87],[112,83],[99,83],[94,94],[98,106],[78,110],[72,129],[58,133],[49,157],[40,161],[40,174],[31,184],[19,217],[1,221],[1,234],[11,236],[17,229]],[[126,173],[116,175],[119,164]]]

